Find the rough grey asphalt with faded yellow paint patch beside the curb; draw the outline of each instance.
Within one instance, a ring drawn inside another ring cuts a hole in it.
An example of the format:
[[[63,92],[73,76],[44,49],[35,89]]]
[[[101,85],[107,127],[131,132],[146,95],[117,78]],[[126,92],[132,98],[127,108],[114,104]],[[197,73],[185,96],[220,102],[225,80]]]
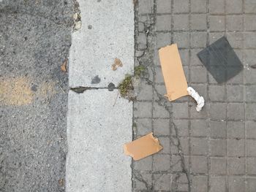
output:
[[[64,191],[73,1],[0,1],[0,191]]]

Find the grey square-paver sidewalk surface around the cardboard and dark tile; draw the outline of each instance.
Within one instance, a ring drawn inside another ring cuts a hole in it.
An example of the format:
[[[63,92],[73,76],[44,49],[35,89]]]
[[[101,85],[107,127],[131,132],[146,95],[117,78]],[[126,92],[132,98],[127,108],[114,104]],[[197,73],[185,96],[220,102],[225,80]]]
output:
[[[256,1],[138,0],[136,65],[146,66],[134,104],[134,138],[150,131],[164,149],[132,163],[133,191],[256,191]],[[217,84],[196,53],[225,35],[244,64]],[[189,96],[170,102],[158,48],[178,43]]]

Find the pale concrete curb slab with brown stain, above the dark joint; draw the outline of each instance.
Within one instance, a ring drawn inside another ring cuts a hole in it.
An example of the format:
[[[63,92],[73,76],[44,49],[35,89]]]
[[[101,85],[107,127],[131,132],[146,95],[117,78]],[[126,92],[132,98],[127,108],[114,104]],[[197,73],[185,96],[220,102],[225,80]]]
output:
[[[82,27],[72,35],[69,86],[107,88],[132,74],[134,11],[132,1],[78,1]],[[123,66],[111,69],[115,58]],[[95,81],[95,79],[97,79]]]

